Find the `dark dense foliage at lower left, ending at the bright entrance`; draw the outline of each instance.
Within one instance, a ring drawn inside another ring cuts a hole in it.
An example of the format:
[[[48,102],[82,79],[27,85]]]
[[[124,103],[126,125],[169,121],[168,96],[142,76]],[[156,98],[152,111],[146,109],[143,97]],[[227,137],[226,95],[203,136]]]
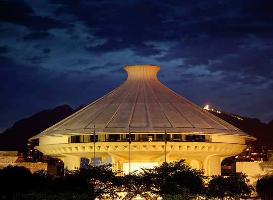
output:
[[[4,183],[0,199],[94,200],[114,199],[122,186],[119,171],[111,164],[89,169],[68,170],[64,177],[52,177],[44,170],[33,174],[24,167],[8,166],[0,170]]]

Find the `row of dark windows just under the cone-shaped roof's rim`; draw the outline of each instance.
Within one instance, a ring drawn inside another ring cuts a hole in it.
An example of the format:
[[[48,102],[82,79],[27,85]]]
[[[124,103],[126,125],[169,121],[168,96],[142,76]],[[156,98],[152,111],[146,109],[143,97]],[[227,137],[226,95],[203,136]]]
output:
[[[131,134],[131,140],[165,141],[165,134]],[[166,141],[209,142],[209,135],[167,134]],[[94,142],[93,135],[70,136],[68,143]],[[129,142],[129,134],[97,134],[95,142]]]

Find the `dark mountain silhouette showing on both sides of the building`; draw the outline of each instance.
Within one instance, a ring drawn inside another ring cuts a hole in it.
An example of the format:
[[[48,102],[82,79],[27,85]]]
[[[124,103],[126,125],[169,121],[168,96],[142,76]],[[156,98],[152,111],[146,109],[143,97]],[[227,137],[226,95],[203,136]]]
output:
[[[0,133],[0,151],[18,151],[23,153],[27,148],[29,138],[46,130],[48,127],[67,118],[85,106],[81,105],[75,110],[68,105],[58,106],[53,110],[44,110],[29,118],[16,121],[11,128]],[[219,112],[216,109],[208,111],[256,137],[257,141],[253,142],[255,146],[267,146],[268,149],[273,149],[273,120],[266,124],[256,118],[241,117],[223,111]]]

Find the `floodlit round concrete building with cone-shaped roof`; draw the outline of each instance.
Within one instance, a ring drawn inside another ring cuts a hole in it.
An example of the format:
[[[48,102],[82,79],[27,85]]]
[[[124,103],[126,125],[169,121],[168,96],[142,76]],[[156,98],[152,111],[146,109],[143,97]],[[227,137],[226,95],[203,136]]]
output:
[[[67,169],[111,162],[126,173],[131,148],[131,171],[185,159],[206,175],[221,174],[221,161],[255,138],[164,86],[156,76],[160,68],[124,67],[128,79],[123,84],[30,141],[63,160]]]

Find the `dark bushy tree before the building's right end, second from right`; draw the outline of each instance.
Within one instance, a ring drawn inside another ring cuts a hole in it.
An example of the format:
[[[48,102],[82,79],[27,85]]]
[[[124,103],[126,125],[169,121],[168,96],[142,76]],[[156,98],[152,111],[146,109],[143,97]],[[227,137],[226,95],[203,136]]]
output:
[[[207,197],[218,200],[234,200],[235,195],[248,199],[254,188],[249,185],[247,175],[233,173],[229,177],[212,176],[207,188]]]

